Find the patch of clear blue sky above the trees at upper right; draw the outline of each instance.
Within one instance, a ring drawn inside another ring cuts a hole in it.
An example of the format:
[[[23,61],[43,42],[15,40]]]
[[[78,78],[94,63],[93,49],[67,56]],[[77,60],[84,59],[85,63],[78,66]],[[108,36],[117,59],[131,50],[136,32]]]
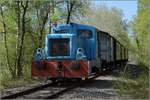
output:
[[[95,7],[106,5],[109,8],[116,7],[123,11],[124,19],[127,21],[133,20],[137,14],[137,1],[136,0],[94,0]]]

